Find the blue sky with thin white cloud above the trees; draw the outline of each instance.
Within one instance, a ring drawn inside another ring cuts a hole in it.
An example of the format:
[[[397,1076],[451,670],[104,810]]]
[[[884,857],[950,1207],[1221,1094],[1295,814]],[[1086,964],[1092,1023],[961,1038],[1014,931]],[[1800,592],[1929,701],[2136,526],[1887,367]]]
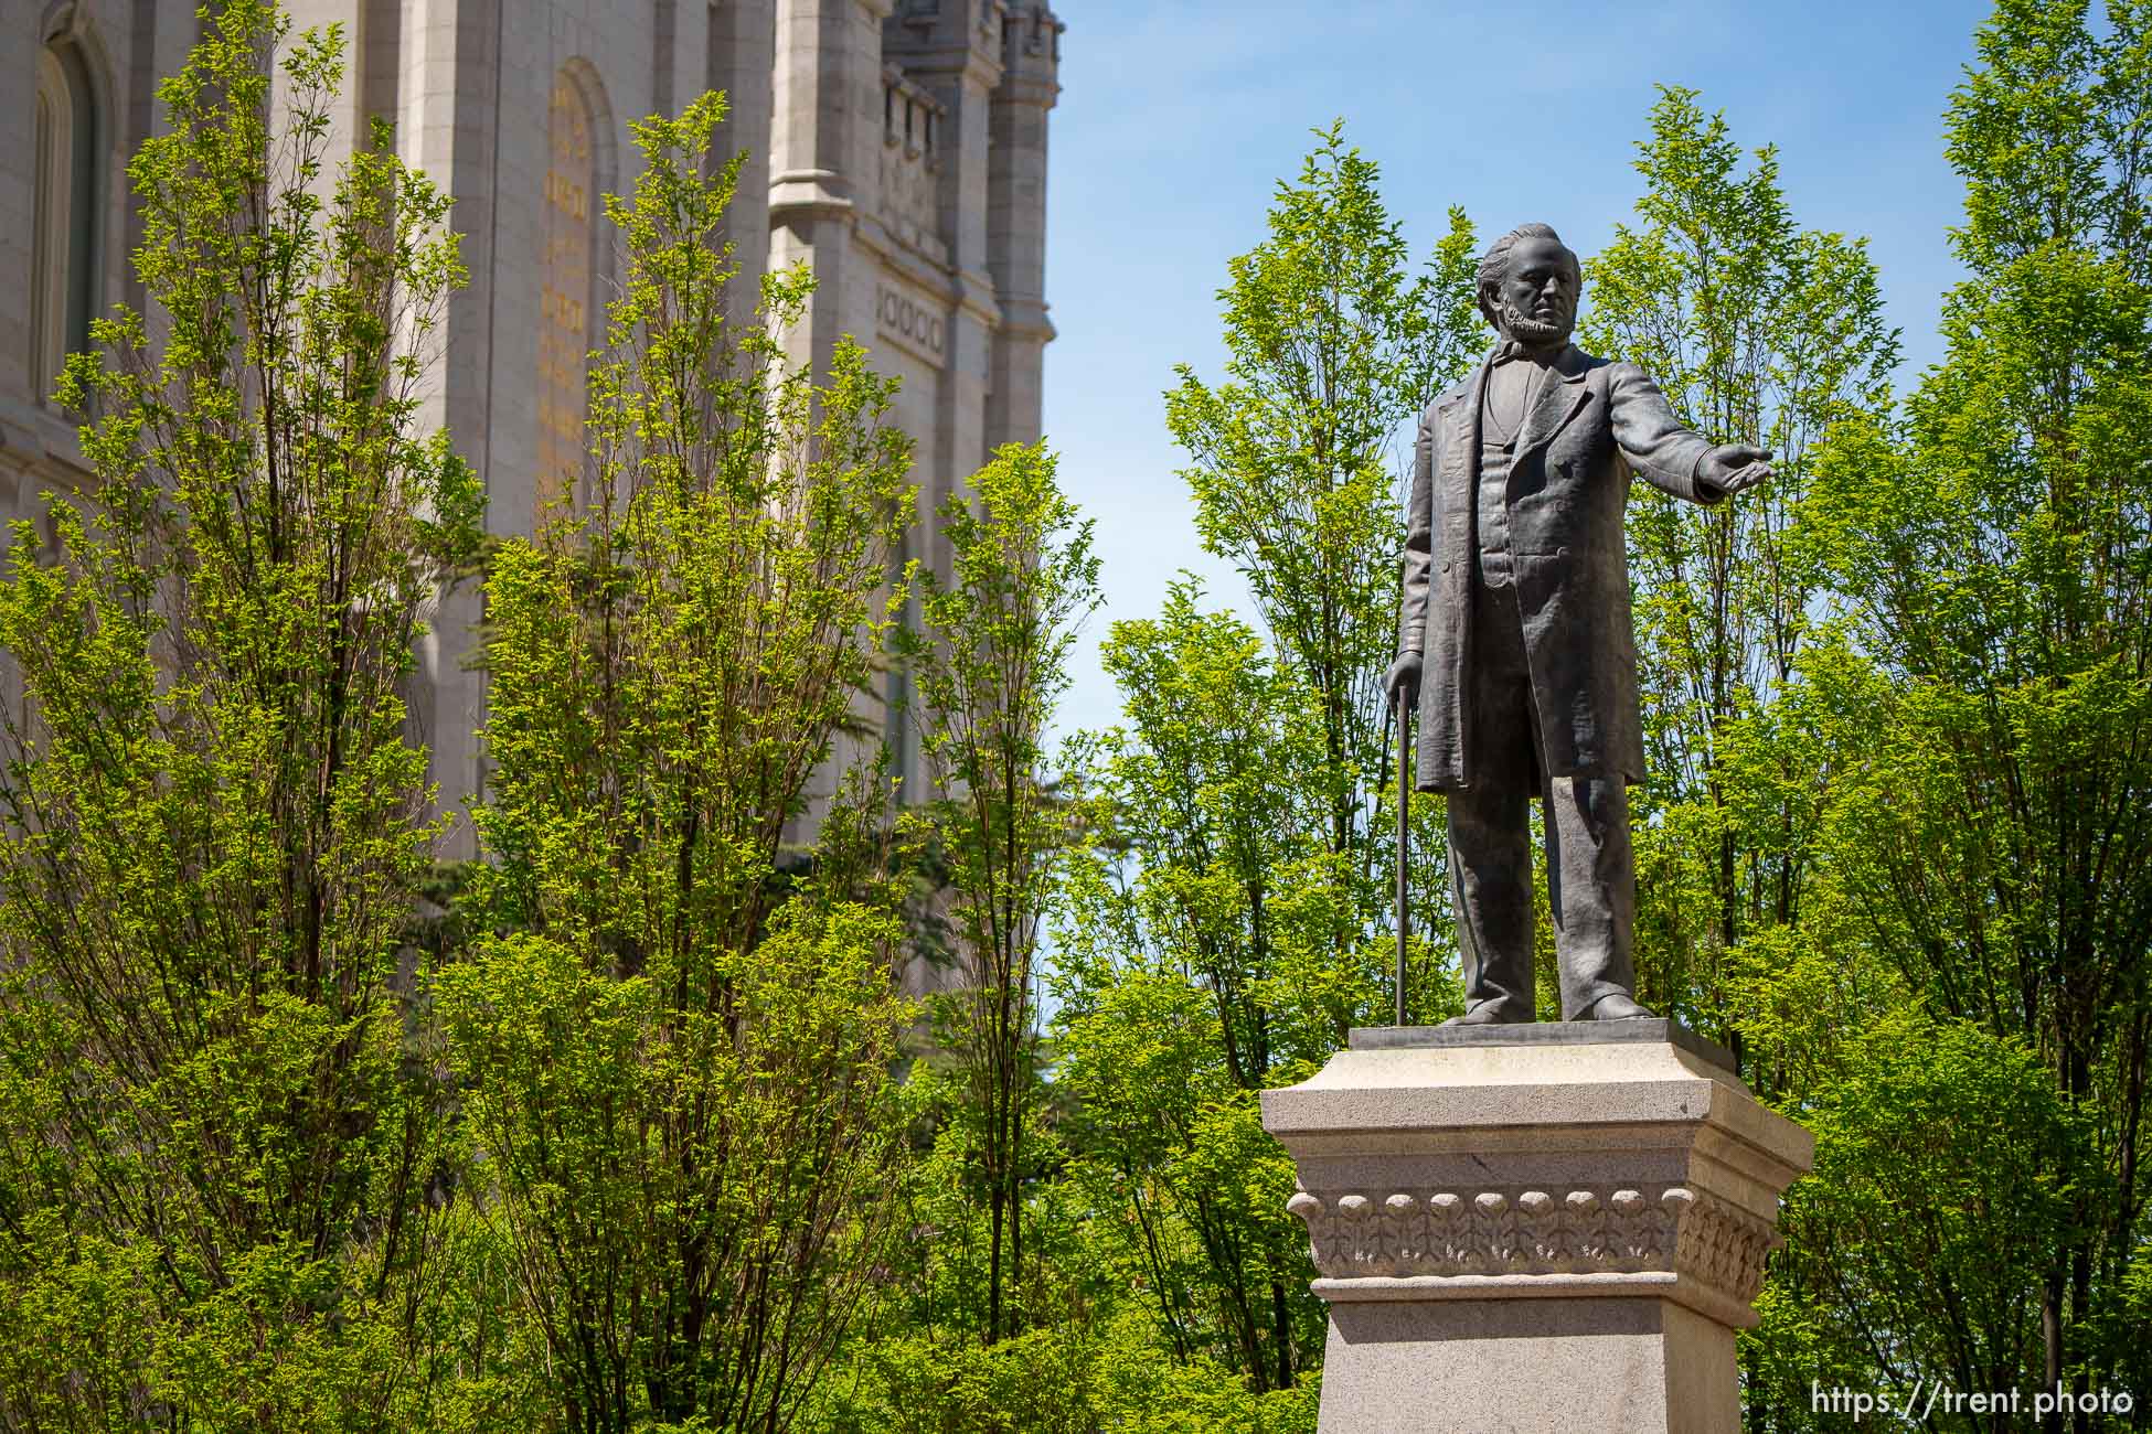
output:
[[[1280,176],[1332,118],[1382,166],[1425,258],[1450,204],[1491,239],[1528,219],[1592,254],[1631,217],[1655,86],[1702,90],[1745,148],[1775,144],[1806,228],[1866,234],[1911,383],[1939,350],[1963,187],[1943,107],[1986,4],[1956,0],[1059,0],[1046,286],[1046,436],[1098,518],[1106,606],[1078,645],[1061,727],[1119,718],[1098,641],[1201,572],[1164,428],[1175,363],[1222,372],[1216,292],[1255,247]],[[1590,307],[1590,290],[1584,305]]]

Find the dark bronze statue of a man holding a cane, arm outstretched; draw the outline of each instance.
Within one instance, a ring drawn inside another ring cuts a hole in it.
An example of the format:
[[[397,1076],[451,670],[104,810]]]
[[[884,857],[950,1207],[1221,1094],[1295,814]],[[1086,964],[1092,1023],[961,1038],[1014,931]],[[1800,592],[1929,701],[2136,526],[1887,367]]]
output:
[[[1545,224],[1478,269],[1502,340],[1420,415],[1392,701],[1418,701],[1420,791],[1448,793],[1466,1013],[1532,1019],[1528,802],[1545,802],[1562,1019],[1636,1002],[1631,783],[1644,776],[1623,507],[1631,475],[1691,503],[1771,454],[1683,428],[1633,363],[1580,353],[1577,256]]]

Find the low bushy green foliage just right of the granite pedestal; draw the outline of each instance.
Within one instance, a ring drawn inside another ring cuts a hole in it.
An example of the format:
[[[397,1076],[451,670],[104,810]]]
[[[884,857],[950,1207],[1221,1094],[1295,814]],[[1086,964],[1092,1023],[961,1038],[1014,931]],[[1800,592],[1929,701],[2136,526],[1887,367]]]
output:
[[[1752,1428],[1829,1428],[1812,1387],[2027,1391],[1937,1428],[2029,1428],[2040,1290],[2072,1221],[2085,1122],[2036,1051],[1913,1006],[1838,1043],[1801,1109],[1816,1170],[1786,1195],[1788,1247],[1750,1346]],[[1917,1408],[1917,1404],[1915,1404]]]

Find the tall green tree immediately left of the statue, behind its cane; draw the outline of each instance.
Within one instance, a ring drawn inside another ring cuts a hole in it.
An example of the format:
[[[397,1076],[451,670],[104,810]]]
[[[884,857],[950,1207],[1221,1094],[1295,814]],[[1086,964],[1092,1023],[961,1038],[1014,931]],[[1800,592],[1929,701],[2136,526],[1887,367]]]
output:
[[[1397,656],[1399,434],[1478,353],[1474,245],[1453,209],[1431,264],[1410,275],[1375,163],[1343,123],[1317,140],[1298,183],[1278,185],[1265,241],[1229,262],[1227,381],[1179,365],[1166,428],[1190,458],[1203,546],[1248,578],[1280,664],[1315,694],[1326,843],[1373,892],[1394,772],[1382,673]],[[1354,937],[1343,922],[1341,955]]]

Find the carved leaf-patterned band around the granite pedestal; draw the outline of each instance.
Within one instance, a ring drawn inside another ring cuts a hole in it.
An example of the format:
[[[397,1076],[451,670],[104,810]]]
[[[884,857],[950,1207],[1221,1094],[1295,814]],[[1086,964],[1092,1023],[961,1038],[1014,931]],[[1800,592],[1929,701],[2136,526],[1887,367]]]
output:
[[[1778,1232],[1683,1185],[1657,1189],[1293,1195],[1328,1279],[1681,1273],[1741,1303],[1762,1290]]]

